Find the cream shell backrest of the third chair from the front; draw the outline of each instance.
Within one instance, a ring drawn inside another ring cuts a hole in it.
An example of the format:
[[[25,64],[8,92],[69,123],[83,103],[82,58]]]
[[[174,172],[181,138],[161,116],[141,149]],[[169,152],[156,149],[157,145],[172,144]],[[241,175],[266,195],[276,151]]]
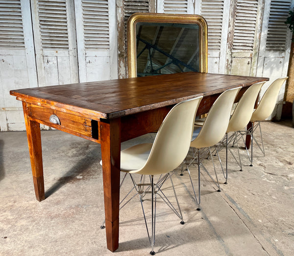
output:
[[[249,123],[258,93],[264,83],[265,82],[252,84],[245,91],[230,118],[226,132],[242,130]]]

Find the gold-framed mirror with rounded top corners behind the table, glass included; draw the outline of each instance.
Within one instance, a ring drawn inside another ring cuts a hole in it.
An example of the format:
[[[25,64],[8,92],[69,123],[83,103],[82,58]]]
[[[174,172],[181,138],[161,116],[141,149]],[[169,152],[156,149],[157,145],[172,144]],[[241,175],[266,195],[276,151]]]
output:
[[[207,72],[207,24],[199,15],[135,13],[127,23],[128,77]]]

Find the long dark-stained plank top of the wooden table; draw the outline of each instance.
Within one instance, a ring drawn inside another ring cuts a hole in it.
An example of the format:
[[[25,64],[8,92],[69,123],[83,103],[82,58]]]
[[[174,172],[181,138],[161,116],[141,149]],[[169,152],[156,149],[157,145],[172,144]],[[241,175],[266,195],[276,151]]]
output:
[[[80,113],[90,111],[98,118],[112,119],[266,80],[269,79],[189,72],[27,88],[10,94],[25,102]]]

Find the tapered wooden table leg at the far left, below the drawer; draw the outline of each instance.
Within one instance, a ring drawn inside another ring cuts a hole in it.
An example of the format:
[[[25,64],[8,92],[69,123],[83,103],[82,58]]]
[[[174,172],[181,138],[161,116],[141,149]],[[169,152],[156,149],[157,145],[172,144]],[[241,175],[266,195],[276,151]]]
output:
[[[45,190],[40,124],[29,119],[27,106],[25,102],[23,102],[23,108],[25,115],[26,136],[31,161],[35,194],[36,199],[39,202],[41,202],[45,199]]]

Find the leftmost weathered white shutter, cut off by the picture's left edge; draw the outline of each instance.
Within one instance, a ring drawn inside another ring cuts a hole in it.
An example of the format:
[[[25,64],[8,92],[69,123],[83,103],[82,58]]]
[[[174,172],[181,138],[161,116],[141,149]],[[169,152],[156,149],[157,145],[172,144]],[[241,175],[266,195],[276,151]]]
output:
[[[0,0],[0,131],[25,129],[22,103],[9,91],[37,85],[29,1]]]

